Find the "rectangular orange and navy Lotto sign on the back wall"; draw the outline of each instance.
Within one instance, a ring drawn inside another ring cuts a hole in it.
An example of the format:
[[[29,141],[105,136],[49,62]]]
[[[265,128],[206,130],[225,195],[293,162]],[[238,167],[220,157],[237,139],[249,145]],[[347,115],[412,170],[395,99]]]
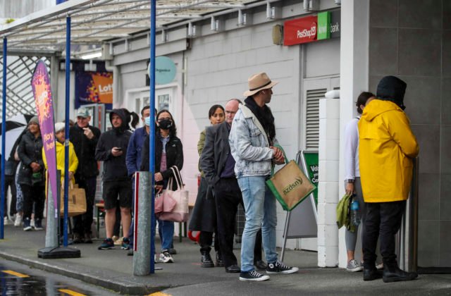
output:
[[[113,73],[75,72],[75,109],[84,104],[113,104]]]

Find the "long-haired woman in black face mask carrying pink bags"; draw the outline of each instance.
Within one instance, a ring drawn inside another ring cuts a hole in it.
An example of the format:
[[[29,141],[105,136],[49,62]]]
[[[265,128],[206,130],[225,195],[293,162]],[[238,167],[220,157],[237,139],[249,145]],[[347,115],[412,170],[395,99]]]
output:
[[[161,110],[156,114],[155,132],[155,187],[160,192],[168,184],[173,175],[171,166],[177,166],[181,171],[183,168],[183,146],[177,135],[177,128],[173,116],[168,110]],[[142,162],[140,171],[149,171],[149,136],[144,140],[142,147]],[[173,190],[177,183],[173,183]],[[171,221],[158,221],[159,235],[161,238],[160,261],[164,263],[173,262],[169,249],[173,243],[174,223]]]

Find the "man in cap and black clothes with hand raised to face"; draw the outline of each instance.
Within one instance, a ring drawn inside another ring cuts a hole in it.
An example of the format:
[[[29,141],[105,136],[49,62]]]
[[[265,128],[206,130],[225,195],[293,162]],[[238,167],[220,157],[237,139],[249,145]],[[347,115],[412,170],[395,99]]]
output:
[[[92,244],[91,225],[94,198],[96,195],[97,161],[95,152],[100,137],[100,130],[89,125],[91,116],[85,108],[78,109],[77,123],[70,128],[70,142],[78,158],[78,169],[75,171],[75,183],[86,192],[86,213],[73,217],[73,242]]]

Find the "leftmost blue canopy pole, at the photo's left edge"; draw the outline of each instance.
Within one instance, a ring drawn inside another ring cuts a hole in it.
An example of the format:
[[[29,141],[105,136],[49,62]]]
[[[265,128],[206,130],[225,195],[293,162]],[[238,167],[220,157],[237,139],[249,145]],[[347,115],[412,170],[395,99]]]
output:
[[[5,141],[6,141],[6,56],[8,49],[6,38],[3,39],[3,85],[2,85],[2,109],[1,109],[1,205],[0,205],[0,239],[4,239],[4,216],[5,216]],[[153,207],[152,207],[153,209]]]

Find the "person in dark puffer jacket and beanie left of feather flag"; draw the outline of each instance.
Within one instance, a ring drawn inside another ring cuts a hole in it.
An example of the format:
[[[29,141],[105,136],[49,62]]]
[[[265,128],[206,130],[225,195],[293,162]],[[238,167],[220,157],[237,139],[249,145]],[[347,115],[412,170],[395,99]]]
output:
[[[33,203],[35,203],[35,230],[42,230],[45,183],[42,137],[37,116],[30,119],[28,130],[20,139],[18,156],[22,161],[18,183],[23,192],[23,230],[32,230],[30,223]]]

